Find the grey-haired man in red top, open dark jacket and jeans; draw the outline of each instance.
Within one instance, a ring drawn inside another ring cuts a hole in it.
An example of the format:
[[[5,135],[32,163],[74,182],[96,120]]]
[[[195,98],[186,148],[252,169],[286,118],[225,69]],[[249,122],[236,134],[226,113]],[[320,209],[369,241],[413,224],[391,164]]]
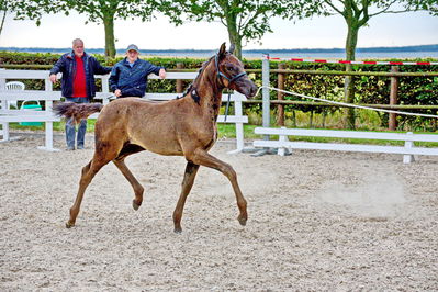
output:
[[[102,67],[99,61],[83,50],[80,38],[72,41],[72,52],[64,54],[50,70],[50,81],[56,82],[58,72],[63,74],[61,90],[66,101],[88,103],[96,96],[94,74],[105,75],[111,71]],[[77,148],[83,149],[87,132],[87,120],[81,120],[78,127]],[[67,150],[75,150],[75,121],[66,122]]]

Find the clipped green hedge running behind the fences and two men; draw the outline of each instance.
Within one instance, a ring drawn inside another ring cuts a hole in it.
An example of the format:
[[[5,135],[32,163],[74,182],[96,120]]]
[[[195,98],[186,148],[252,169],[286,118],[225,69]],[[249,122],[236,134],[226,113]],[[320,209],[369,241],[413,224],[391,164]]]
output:
[[[53,64],[60,57],[60,54],[32,54],[32,53],[9,53],[0,52],[0,67],[1,65],[21,65],[21,69],[35,69],[34,65],[38,65],[37,69],[49,69]],[[102,55],[94,55],[94,57],[105,66],[112,66],[122,57],[114,59],[104,58]],[[146,58],[155,65],[164,66],[167,69],[176,69],[177,64],[181,63],[184,69],[196,70],[205,61],[205,58],[161,58],[151,57]],[[406,61],[403,59],[391,59]],[[414,61],[437,61],[434,59],[415,59]],[[413,61],[409,59],[409,61]],[[244,59],[246,69],[261,69],[260,59]],[[303,69],[303,70],[344,70],[345,67],[341,64],[313,64],[313,63],[292,63],[282,61],[287,69]],[[45,65],[45,67],[44,67]],[[277,69],[279,63],[271,61],[271,69]],[[25,67],[29,66],[29,67]],[[402,72],[417,72],[417,71],[438,71],[438,66],[398,66]],[[385,65],[355,65],[353,70],[356,71],[390,71],[391,66]],[[250,72],[249,77],[256,82],[257,86],[261,86],[261,72]],[[285,90],[295,91],[306,96],[326,98],[329,100],[342,101],[344,99],[344,77],[342,76],[315,76],[306,74],[287,75],[285,76]],[[398,87],[398,102],[401,104],[438,104],[438,77],[402,77]],[[277,87],[278,76],[271,74],[270,81],[272,87]],[[34,90],[44,89],[44,82],[42,80],[24,80],[26,88]],[[190,81],[184,81],[184,87]],[[98,86],[100,86],[98,83]],[[374,104],[389,104],[390,97],[390,78],[389,77],[356,77],[356,97],[355,100],[358,103],[374,103]],[[55,89],[59,89],[59,82],[55,85]],[[176,82],[175,80],[150,80],[149,92],[175,92]],[[258,97],[260,99],[260,97]],[[271,92],[271,99],[277,99],[277,92]],[[297,100],[295,97],[285,96],[288,100]],[[313,106],[313,105],[287,105],[288,112],[302,111],[310,112],[312,114],[339,114],[339,108],[336,106]],[[261,104],[246,104],[245,111],[252,112],[256,114],[261,113]],[[437,111],[433,110],[417,110],[417,112],[437,114]],[[388,114],[379,114],[381,126],[388,125]],[[422,119],[398,115],[398,125],[401,128],[408,125],[409,128],[416,130],[435,130],[437,123],[433,119]]]

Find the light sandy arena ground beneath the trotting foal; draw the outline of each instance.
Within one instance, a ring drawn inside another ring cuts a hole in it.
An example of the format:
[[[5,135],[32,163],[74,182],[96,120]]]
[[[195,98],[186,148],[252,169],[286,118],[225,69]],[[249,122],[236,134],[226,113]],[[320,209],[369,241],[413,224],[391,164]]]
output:
[[[0,144],[0,291],[438,290],[438,157],[231,156],[218,142],[211,153],[238,173],[247,226],[228,181],[201,168],[175,234],[186,161],[145,151],[126,159],[141,209],[110,164],[67,229],[87,138],[59,153],[37,150],[42,136]]]

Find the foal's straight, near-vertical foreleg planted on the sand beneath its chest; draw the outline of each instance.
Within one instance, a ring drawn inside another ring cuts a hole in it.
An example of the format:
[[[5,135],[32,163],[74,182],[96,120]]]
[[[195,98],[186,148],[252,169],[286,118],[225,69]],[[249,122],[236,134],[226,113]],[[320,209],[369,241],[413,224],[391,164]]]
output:
[[[181,194],[179,196],[177,206],[175,207],[173,211],[173,226],[175,226],[175,232],[176,233],[181,233],[181,217],[182,217],[182,210],[184,209],[186,204],[186,199],[190,193],[190,190],[192,189],[193,182],[194,182],[194,177],[196,176],[199,169],[199,165],[195,165],[193,162],[187,162],[186,166],[186,172],[184,172],[184,179],[182,180],[182,189],[181,189]]]

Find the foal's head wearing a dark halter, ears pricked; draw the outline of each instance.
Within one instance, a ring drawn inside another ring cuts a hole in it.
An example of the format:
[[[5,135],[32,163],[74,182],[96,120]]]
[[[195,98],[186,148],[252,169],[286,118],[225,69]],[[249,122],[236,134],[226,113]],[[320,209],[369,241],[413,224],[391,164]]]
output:
[[[245,72],[244,64],[232,53],[226,52],[225,43],[222,44],[217,55],[211,58],[209,67],[212,66],[218,83],[223,87],[236,90],[247,98],[256,94],[257,87]]]

